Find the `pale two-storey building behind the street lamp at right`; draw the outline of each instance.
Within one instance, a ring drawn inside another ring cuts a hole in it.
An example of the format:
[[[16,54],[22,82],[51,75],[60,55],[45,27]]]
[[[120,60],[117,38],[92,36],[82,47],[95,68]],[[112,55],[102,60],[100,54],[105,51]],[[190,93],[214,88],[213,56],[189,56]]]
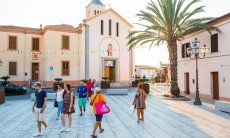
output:
[[[208,23],[221,32],[199,31],[187,35],[178,48],[178,82],[181,91],[195,95],[195,60],[186,54],[195,38],[200,46],[206,44],[209,52],[198,61],[200,96],[203,98],[230,101],[230,13]]]

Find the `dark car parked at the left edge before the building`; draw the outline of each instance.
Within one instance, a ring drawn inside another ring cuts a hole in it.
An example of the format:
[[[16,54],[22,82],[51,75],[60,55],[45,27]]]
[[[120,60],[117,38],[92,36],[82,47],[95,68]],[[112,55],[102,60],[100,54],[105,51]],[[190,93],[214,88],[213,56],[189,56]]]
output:
[[[25,94],[27,92],[27,89],[25,87],[16,85],[8,81],[0,80],[0,87],[5,89],[5,94]]]

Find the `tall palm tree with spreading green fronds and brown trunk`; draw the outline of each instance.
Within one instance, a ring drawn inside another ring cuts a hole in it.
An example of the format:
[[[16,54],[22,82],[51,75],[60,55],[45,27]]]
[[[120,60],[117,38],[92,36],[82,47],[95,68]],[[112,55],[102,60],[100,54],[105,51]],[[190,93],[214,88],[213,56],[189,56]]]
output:
[[[204,12],[204,6],[195,7],[200,0],[152,0],[148,3],[146,11],[141,10],[137,16],[138,23],[143,30],[130,32],[128,38],[129,49],[149,44],[160,46],[167,44],[169,61],[171,66],[171,93],[179,96],[180,89],[177,81],[177,42],[183,40],[183,36],[194,31],[218,30],[208,26],[206,23],[213,18],[195,18]]]

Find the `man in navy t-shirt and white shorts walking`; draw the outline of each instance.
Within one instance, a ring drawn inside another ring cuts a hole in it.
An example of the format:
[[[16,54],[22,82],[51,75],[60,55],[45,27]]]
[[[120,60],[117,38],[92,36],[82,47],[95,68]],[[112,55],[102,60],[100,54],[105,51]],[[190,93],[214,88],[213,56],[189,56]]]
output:
[[[47,103],[47,94],[46,91],[42,90],[41,88],[41,83],[36,83],[35,85],[35,100],[34,100],[34,105],[32,108],[33,113],[35,114],[36,120],[37,120],[37,125],[38,125],[38,132],[34,134],[34,137],[41,136],[41,128],[42,125],[45,126],[45,131],[47,131],[47,124],[44,121],[44,116],[45,116],[45,108],[46,108],[46,103]]]

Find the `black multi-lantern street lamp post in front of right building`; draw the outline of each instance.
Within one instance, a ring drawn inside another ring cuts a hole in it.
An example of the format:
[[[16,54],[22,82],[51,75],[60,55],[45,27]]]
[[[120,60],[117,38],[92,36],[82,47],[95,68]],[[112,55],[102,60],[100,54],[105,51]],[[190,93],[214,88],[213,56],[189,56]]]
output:
[[[187,48],[187,53],[191,59],[196,60],[196,98],[193,102],[194,105],[201,105],[200,97],[199,97],[199,83],[198,83],[198,59],[204,59],[206,54],[208,53],[208,47],[206,45],[200,48],[200,41],[195,38],[192,42],[192,46]]]

